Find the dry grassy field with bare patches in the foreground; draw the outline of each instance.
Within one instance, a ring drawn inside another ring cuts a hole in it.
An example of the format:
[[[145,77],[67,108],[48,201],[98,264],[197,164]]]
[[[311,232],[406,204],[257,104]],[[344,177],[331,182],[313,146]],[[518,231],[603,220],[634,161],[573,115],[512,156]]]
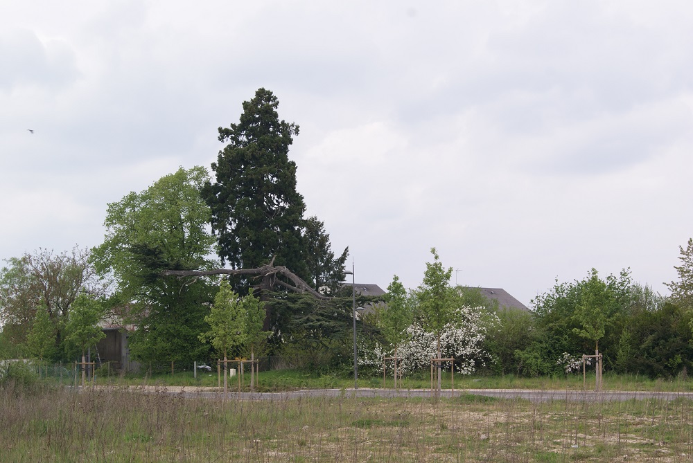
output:
[[[128,388],[0,390],[0,462],[678,462],[688,400],[221,401]]]

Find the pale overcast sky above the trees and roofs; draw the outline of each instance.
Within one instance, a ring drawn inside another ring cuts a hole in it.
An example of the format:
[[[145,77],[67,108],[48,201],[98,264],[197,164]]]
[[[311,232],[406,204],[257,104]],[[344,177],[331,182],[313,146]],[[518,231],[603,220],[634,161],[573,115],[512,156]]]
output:
[[[356,281],[525,305],[595,268],[667,295],[693,237],[693,3],[0,5],[0,259],[103,241],[107,203],[209,169],[260,87]],[[28,131],[32,129],[33,134]]]

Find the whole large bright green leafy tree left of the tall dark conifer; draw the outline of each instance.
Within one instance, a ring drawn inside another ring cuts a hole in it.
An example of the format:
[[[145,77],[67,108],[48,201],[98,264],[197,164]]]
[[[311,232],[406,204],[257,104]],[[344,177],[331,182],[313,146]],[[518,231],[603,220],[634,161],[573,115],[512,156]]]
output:
[[[200,197],[209,179],[203,167],[179,169],[143,192],[109,203],[104,243],[94,262],[118,283],[117,299],[137,325],[130,352],[141,361],[192,362],[209,347],[198,336],[216,292],[214,280],[163,276],[166,270],[210,270],[215,239],[210,211]]]

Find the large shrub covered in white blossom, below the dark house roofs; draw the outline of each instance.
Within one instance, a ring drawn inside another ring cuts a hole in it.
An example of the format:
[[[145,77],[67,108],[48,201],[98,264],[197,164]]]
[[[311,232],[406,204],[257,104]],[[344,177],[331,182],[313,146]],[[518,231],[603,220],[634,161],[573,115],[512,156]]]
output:
[[[455,370],[462,374],[471,374],[477,367],[486,365],[489,355],[483,349],[486,328],[490,323],[498,323],[495,314],[482,320],[482,308],[461,307],[455,311],[455,323],[446,325],[441,334],[440,347],[442,358],[455,358]],[[407,341],[400,345],[398,356],[403,358],[403,372],[426,370],[430,368],[431,358],[437,357],[437,338],[433,333],[423,331],[415,323],[407,328]],[[360,349],[359,364],[363,366],[383,365],[384,356],[393,356],[391,348],[376,346],[367,350]],[[446,365],[443,365],[446,367]],[[388,370],[392,370],[388,368]]]

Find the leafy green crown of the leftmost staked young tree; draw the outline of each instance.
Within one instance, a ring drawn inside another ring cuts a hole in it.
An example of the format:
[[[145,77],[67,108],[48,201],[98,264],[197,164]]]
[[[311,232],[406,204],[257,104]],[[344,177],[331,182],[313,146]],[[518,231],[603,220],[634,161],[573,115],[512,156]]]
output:
[[[103,308],[97,300],[85,293],[77,296],[65,325],[67,345],[76,347],[84,356],[89,347],[95,347],[98,341],[106,337],[98,326],[101,318]]]

